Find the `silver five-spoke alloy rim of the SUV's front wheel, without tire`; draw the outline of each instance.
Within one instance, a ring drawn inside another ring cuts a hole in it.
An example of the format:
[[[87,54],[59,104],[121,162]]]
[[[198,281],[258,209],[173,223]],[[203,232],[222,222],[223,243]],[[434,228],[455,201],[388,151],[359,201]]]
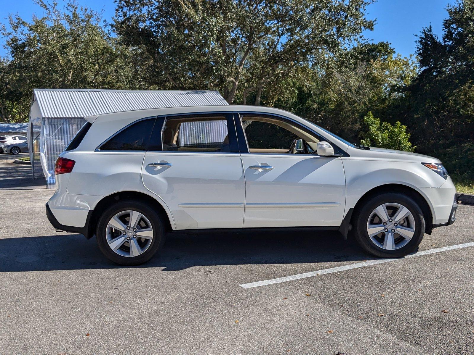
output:
[[[415,219],[410,210],[401,204],[381,204],[369,216],[367,233],[377,247],[399,249],[415,234]]]

